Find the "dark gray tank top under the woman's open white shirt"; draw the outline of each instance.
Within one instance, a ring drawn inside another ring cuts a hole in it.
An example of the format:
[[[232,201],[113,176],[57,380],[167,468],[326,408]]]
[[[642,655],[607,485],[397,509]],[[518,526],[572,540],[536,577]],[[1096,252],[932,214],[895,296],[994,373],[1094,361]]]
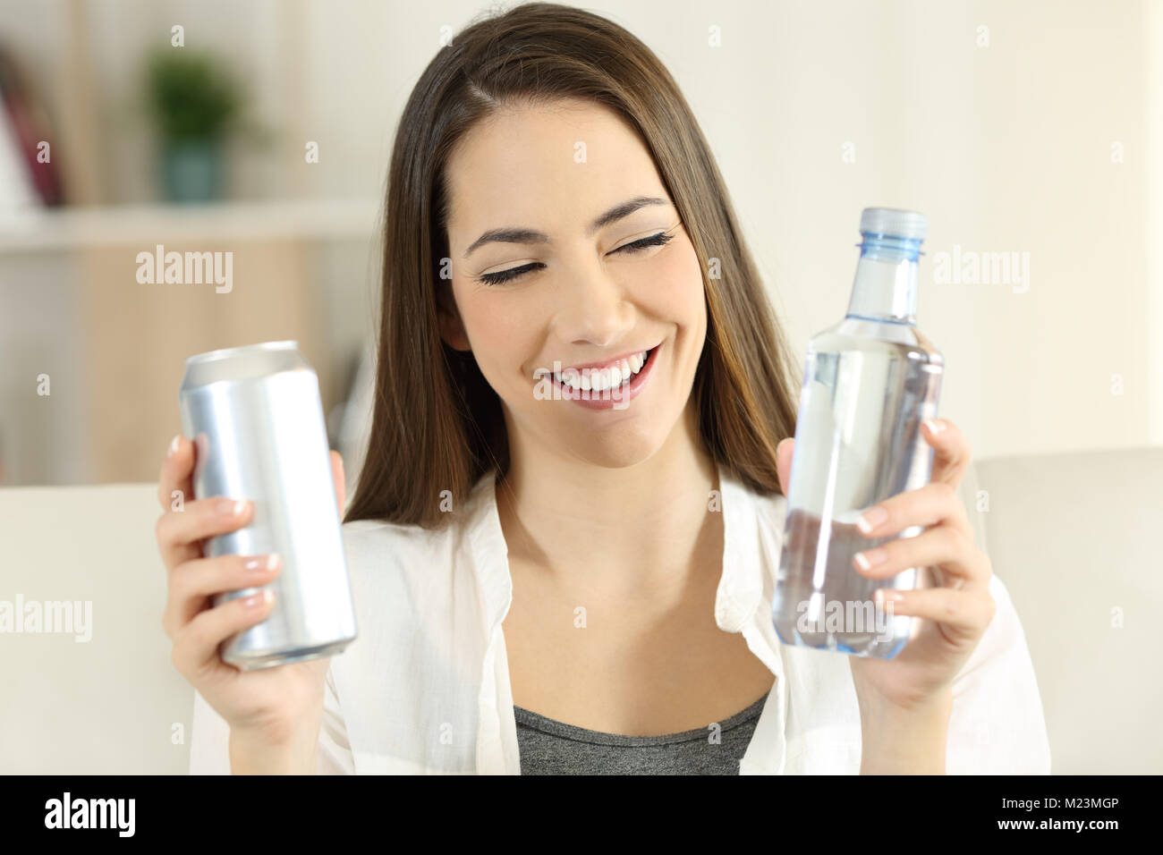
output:
[[[700,727],[625,736],[566,725],[513,706],[522,775],[739,775],[768,696],[719,722],[719,741]]]

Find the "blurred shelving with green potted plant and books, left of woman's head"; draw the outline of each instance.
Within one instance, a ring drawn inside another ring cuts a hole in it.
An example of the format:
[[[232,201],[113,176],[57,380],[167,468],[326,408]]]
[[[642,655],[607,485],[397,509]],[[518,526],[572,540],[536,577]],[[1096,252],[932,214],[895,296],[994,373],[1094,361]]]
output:
[[[314,88],[343,67],[316,17],[348,26],[301,0],[0,0],[0,485],[155,477],[184,361],[216,348],[297,340],[328,413],[348,399],[393,115],[340,117],[372,73]],[[159,247],[229,254],[229,290],[143,283]]]

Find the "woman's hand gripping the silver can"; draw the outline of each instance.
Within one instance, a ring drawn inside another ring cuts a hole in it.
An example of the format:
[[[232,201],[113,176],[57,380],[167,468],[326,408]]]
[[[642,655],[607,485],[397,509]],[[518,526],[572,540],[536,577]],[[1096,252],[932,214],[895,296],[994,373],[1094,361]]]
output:
[[[254,671],[224,663],[219,646],[237,632],[262,622],[273,607],[262,592],[214,606],[212,597],[226,591],[258,587],[278,577],[267,555],[221,555],[207,558],[202,541],[243,528],[251,522],[254,504],[228,498],[195,499],[192,473],[195,447],[177,436],[162,462],[158,501],[164,513],[155,534],[169,576],[169,596],[162,626],[173,642],[174,668],[230,725],[231,758],[236,750],[249,758],[285,750],[311,768],[323,710],[323,681],[330,657],[292,662]],[[331,451],[335,501],[343,518],[343,461]],[[180,492],[180,501],[174,496]],[[173,508],[181,508],[173,510]],[[251,603],[250,600],[255,600]],[[245,744],[245,751],[242,744]]]

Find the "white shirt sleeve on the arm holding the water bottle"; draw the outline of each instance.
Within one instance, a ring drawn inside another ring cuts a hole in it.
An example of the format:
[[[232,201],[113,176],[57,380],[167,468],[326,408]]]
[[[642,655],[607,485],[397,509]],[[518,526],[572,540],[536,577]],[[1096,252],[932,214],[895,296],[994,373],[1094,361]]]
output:
[[[993,620],[952,684],[949,775],[1049,775],[1034,663],[1009,591],[990,577]]]

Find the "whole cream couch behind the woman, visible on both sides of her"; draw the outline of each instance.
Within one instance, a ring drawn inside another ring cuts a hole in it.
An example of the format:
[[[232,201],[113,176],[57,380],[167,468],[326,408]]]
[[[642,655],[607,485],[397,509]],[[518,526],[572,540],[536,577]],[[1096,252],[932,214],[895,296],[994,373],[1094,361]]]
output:
[[[978,461],[962,485],[1026,629],[1056,774],[1163,772],[1161,483],[1151,448]],[[156,489],[0,490],[0,599],[92,603],[88,641],[0,635],[0,772],[187,772]]]

